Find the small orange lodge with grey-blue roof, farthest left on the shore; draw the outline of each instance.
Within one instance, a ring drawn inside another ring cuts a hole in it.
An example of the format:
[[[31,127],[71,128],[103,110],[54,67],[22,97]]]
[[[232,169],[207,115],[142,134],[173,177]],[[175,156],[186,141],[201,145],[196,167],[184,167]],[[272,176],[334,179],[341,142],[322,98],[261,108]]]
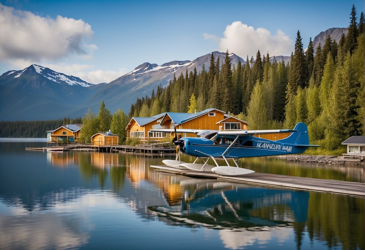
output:
[[[47,131],[47,143],[73,144],[80,137],[82,124],[67,124],[55,130]]]

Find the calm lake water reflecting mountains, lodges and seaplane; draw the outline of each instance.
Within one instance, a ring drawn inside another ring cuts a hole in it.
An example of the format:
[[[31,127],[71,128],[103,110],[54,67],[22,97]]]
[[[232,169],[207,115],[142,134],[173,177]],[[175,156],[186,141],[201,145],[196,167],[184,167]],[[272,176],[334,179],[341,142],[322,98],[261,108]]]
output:
[[[0,142],[0,249],[365,249],[365,199],[154,171],[161,156],[25,150],[44,146]],[[364,182],[361,167],[240,164]]]

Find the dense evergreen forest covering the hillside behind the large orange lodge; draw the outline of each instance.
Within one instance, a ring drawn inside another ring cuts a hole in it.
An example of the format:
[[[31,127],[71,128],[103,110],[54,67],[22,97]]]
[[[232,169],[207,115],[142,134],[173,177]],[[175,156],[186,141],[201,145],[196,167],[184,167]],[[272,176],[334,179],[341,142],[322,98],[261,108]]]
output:
[[[287,65],[269,59],[269,52],[231,65],[212,53],[208,69],[174,76],[151,97],[137,99],[130,117],[163,112],[197,112],[217,108],[249,123],[249,129],[294,128],[305,122],[312,144],[336,149],[364,133],[364,14],[357,23],[352,7],[348,34],[337,43],[328,35],[314,55],[310,38],[304,52],[297,31]]]

